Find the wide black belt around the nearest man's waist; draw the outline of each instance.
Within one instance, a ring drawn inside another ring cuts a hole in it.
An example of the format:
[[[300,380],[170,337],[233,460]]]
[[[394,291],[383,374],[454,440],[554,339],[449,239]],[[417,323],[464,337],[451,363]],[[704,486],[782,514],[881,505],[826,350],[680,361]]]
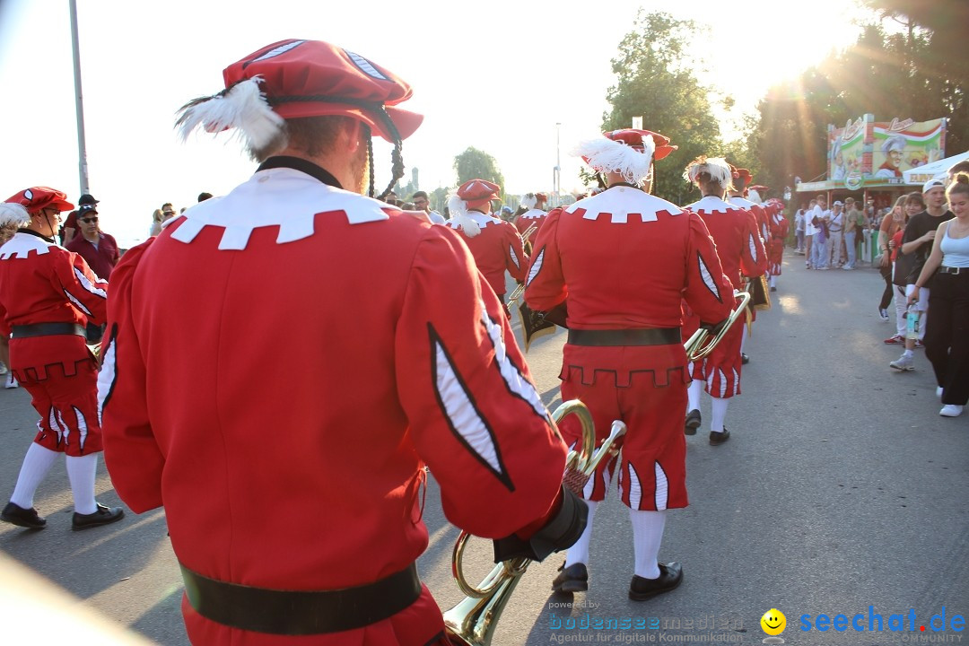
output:
[[[320,591],[253,588],[179,566],[185,595],[195,611],[242,631],[286,635],[351,631],[383,621],[421,596],[416,564],[367,585]]]

